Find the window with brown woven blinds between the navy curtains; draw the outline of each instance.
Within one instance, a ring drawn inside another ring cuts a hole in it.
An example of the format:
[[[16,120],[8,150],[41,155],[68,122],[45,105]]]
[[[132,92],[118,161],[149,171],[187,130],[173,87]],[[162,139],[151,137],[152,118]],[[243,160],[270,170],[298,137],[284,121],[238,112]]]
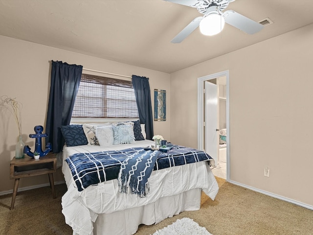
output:
[[[132,81],[82,74],[72,118],[138,118]]]

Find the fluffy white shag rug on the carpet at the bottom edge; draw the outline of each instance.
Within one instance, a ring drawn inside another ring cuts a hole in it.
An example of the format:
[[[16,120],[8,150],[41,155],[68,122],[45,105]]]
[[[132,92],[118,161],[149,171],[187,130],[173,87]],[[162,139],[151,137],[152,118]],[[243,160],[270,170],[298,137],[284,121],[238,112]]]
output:
[[[189,218],[178,219],[173,224],[157,230],[153,235],[211,235],[198,223]]]

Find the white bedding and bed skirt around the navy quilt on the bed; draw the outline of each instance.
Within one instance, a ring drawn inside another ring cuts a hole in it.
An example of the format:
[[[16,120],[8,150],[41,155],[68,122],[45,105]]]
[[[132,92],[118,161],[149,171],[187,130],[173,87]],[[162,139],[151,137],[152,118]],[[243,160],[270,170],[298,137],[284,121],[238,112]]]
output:
[[[201,191],[215,199],[219,188],[208,161],[153,170],[145,197],[120,193],[117,179],[78,190],[65,161],[78,153],[142,148],[152,144],[154,141],[141,140],[107,146],[64,146],[62,171],[67,192],[62,197],[62,213],[73,235],[133,235],[140,224],[152,225],[181,211],[199,210]]]

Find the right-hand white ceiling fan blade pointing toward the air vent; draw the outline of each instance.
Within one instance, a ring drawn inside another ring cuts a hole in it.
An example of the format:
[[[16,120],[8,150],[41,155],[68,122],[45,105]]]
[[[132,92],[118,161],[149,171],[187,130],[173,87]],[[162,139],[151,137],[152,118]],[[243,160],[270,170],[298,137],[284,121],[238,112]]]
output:
[[[223,17],[230,24],[248,34],[259,32],[264,26],[232,10],[224,11]]]

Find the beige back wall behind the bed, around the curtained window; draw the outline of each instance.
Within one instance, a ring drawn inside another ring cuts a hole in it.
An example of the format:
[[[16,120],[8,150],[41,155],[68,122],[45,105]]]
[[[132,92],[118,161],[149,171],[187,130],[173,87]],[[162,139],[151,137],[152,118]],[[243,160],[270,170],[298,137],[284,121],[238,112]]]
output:
[[[34,147],[35,140],[28,137],[29,134],[34,134],[34,126],[45,127],[51,60],[83,65],[84,68],[96,71],[149,77],[153,108],[154,89],[167,92],[167,120],[154,122],[154,130],[155,134],[163,135],[170,140],[171,91],[168,73],[0,36],[0,95],[6,94],[22,102],[22,136],[26,145],[32,149]],[[9,179],[9,166],[15,155],[18,129],[12,116],[4,112],[0,112],[0,127],[0,193],[5,193],[13,189],[14,181]],[[55,175],[55,181],[63,180],[59,170]],[[48,182],[48,177],[24,178],[20,181],[20,188]]]

